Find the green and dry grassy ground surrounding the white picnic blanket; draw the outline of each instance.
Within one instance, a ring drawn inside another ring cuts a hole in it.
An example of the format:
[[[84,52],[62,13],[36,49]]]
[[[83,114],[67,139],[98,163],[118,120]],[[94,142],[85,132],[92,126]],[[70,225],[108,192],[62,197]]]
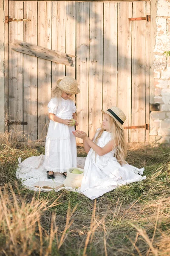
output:
[[[23,256],[170,255],[168,146],[131,145],[127,162],[139,168],[144,166],[147,179],[121,186],[95,201],[65,190],[34,195],[23,187],[15,177],[18,157],[24,160],[43,153],[44,147],[0,145],[0,187],[4,202],[0,204],[0,255],[17,255],[14,248],[20,248],[19,255]],[[78,156],[85,156],[82,148],[78,148]],[[33,198],[34,207],[30,208]],[[5,205],[8,218],[3,215]],[[33,210],[36,210],[34,216]],[[27,226],[29,218],[34,225]],[[29,237],[28,230],[31,230]],[[16,241],[12,241],[12,234]]]

